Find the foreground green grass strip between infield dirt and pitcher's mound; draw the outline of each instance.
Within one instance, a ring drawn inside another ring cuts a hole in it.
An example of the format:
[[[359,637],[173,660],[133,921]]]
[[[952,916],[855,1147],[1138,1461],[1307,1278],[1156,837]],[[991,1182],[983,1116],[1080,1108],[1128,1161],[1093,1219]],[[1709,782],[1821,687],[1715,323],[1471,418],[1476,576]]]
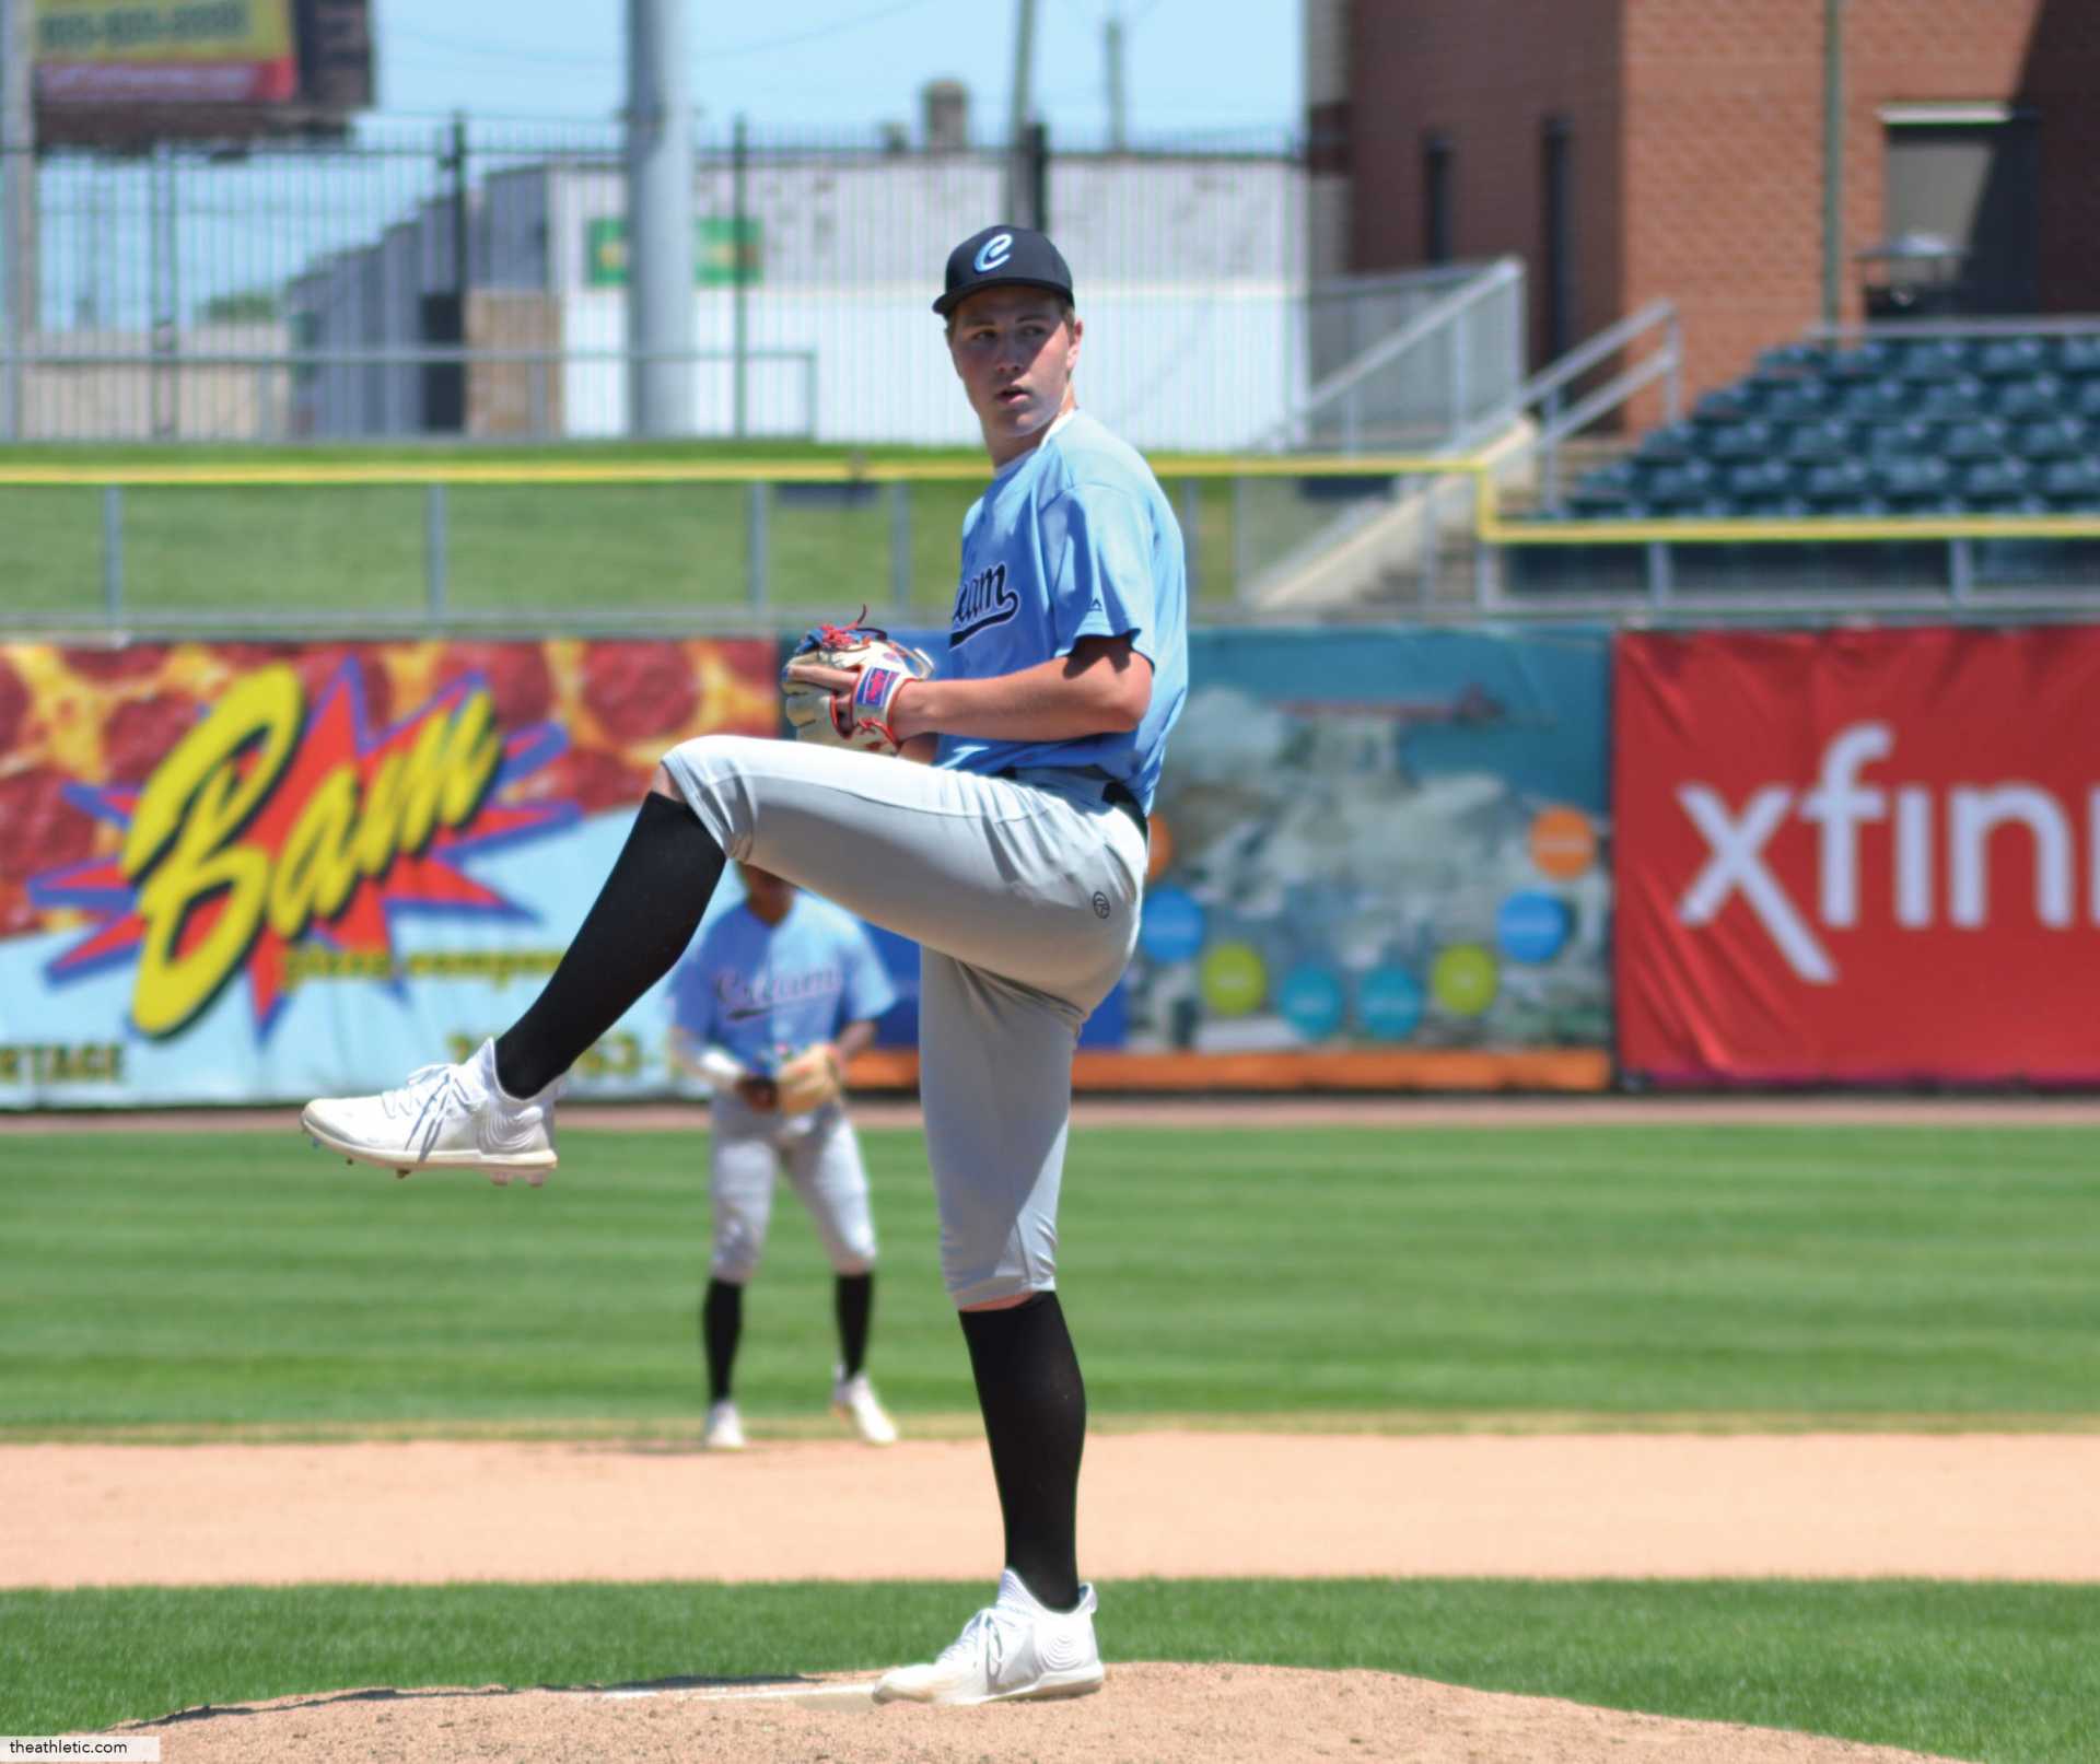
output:
[[[853,1672],[945,1638],[981,1596],[974,1583],[0,1592],[0,1728],[376,1684]],[[2100,1756],[2100,1588],[1117,1581],[1100,1636],[1111,1659],[1373,1667],[2008,1764]]]

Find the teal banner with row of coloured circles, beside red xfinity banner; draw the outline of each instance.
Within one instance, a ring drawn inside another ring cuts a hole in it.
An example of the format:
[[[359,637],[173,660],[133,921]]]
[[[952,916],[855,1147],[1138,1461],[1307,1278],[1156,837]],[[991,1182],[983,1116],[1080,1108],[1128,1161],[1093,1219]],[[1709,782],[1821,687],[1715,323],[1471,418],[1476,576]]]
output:
[[[1606,632],[1201,630],[1189,672],[1126,1048],[1611,1046]]]

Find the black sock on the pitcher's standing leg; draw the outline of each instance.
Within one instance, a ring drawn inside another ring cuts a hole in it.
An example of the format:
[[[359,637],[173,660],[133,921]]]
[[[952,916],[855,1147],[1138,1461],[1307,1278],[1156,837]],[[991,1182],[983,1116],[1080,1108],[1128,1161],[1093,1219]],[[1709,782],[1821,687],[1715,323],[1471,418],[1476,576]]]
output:
[[[1006,1516],[1006,1567],[1050,1611],[1079,1602],[1079,1451],[1086,1384],[1065,1308],[1040,1292],[1012,1310],[964,1310],[976,1405]]]

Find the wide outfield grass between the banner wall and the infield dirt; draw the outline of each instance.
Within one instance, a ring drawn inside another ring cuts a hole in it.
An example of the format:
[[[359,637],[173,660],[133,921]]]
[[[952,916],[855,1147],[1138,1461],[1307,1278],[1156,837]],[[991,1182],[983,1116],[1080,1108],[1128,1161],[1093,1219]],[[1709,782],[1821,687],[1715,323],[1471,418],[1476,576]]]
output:
[[[884,1394],[968,1411],[920,1140],[865,1144]],[[4,1138],[0,1430],[689,1424],[704,1140],[563,1151],[498,1193],[353,1172],[290,1117]],[[2092,1426],[2090,1172],[2048,1128],[1090,1130],[1063,1287],[1109,1426]],[[830,1275],[785,1195],[746,1340],[750,1411],[808,1413]]]

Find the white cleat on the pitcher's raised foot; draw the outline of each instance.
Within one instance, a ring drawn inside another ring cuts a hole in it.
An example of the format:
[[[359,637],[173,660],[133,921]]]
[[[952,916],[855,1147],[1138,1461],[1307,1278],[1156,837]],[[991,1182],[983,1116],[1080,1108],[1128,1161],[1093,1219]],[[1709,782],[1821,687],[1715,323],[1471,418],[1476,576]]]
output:
[[[353,1163],[412,1170],[479,1170],[498,1189],[523,1176],[533,1189],[554,1168],[554,1096],[561,1079],[527,1100],[496,1082],[496,1044],[466,1065],[422,1067],[378,1096],[323,1096],[300,1111],[315,1144]]]

